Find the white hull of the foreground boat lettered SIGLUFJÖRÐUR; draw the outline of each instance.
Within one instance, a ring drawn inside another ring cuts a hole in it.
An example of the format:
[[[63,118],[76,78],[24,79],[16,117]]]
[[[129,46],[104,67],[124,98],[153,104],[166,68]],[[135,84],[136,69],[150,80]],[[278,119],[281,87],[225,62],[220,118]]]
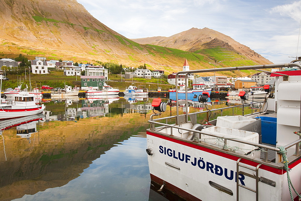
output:
[[[196,146],[186,141],[169,138],[147,131],[147,148],[154,154],[148,155],[148,165],[151,180],[164,188],[188,200],[236,200],[236,161],[237,156],[217,152],[203,146]],[[251,160],[242,160],[242,165],[253,169],[258,163]],[[300,175],[301,164],[297,164],[290,171],[290,175]],[[245,168],[240,171],[254,174]],[[276,186],[259,182],[259,200],[290,200],[285,171],[262,166],[259,177],[268,178],[276,182]],[[253,178],[239,175],[240,184],[256,189]],[[298,192],[301,191],[299,177],[290,177]],[[211,185],[210,185],[211,184]],[[212,184],[227,188],[218,190]],[[295,197],[295,196],[294,196]],[[239,200],[256,200],[256,194],[242,187],[239,188]]]

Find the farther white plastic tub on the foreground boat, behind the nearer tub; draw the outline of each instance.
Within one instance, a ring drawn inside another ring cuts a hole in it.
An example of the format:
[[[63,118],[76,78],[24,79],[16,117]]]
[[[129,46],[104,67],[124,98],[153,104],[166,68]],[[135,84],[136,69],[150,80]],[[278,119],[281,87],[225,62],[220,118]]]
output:
[[[241,128],[256,119],[246,117],[246,116],[218,116],[216,121],[216,126],[226,127],[226,128]]]

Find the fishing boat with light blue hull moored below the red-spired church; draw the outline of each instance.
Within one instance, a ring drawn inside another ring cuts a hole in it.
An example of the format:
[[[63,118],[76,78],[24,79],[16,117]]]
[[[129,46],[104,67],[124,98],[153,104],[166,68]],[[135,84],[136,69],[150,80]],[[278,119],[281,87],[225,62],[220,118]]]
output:
[[[176,99],[176,91],[178,93],[178,100],[182,99],[185,100],[186,99],[186,88],[185,88],[185,84],[181,84],[178,85],[180,86],[180,90],[176,90],[176,89],[169,89],[169,98],[172,100]],[[195,96],[199,96],[204,94],[207,94],[208,97],[210,97],[212,88],[207,87],[207,85],[202,85],[202,84],[195,84],[192,85],[192,88],[187,89],[187,98],[188,100],[194,100]]]

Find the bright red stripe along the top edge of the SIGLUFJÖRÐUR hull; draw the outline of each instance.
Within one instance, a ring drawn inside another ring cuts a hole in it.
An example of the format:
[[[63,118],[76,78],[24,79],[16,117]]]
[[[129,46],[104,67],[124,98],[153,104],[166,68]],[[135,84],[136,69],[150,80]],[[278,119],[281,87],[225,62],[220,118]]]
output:
[[[146,134],[147,135],[152,135],[154,137],[161,138],[161,139],[164,139],[164,140],[172,141],[172,142],[175,142],[175,143],[178,143],[178,144],[182,144],[182,145],[187,146],[187,147],[191,147],[191,148],[194,148],[194,149],[198,149],[198,150],[202,150],[202,151],[205,151],[205,152],[208,152],[208,153],[212,153],[212,154],[215,154],[217,156],[222,156],[224,158],[231,159],[231,160],[234,160],[234,161],[237,161],[239,159],[239,157],[237,157],[237,156],[232,156],[232,155],[229,155],[229,154],[226,154],[226,153],[222,153],[222,152],[219,152],[219,151],[208,149],[206,147],[201,147],[201,146],[197,146],[195,144],[190,144],[188,142],[183,142],[183,141],[180,141],[180,140],[177,140],[177,139],[174,139],[174,138],[169,138],[169,137],[164,136],[164,135],[158,135],[158,134],[155,134],[155,133],[151,133],[150,131],[146,131]],[[250,160],[247,160],[247,159],[241,159],[240,162],[242,162],[244,164],[247,164],[247,165],[251,165],[253,167],[256,167],[259,164],[257,162],[253,162],[253,161],[250,161]],[[301,159],[297,160],[293,164],[289,165],[289,168],[295,167],[300,162],[301,162]],[[276,168],[273,168],[273,167],[270,167],[270,166],[267,166],[267,165],[261,165],[259,168],[263,169],[263,170],[266,170],[266,171],[269,171],[269,172],[273,172],[273,173],[278,174],[278,175],[283,175],[286,172],[284,169],[276,169]]]

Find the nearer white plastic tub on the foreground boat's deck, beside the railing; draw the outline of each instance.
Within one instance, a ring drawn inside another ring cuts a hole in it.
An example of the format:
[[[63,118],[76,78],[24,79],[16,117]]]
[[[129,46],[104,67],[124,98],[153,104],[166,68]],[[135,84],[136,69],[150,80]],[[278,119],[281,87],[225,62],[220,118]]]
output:
[[[213,126],[213,127],[202,129],[202,132],[219,135],[224,138],[234,138],[234,139],[240,139],[248,142],[259,143],[259,134],[250,131],[243,131],[234,128],[225,128],[221,126]],[[201,141],[205,142],[206,144],[211,144],[222,148],[224,146],[224,143],[218,138],[219,137],[213,137],[210,135],[201,134]],[[235,142],[231,140],[227,140],[227,146],[232,147],[231,150],[234,150],[236,149],[236,147],[238,147],[238,150],[236,150],[235,152],[241,154],[250,153],[252,150],[258,148],[253,145]],[[251,156],[254,158],[260,158],[260,151],[252,152]]]

